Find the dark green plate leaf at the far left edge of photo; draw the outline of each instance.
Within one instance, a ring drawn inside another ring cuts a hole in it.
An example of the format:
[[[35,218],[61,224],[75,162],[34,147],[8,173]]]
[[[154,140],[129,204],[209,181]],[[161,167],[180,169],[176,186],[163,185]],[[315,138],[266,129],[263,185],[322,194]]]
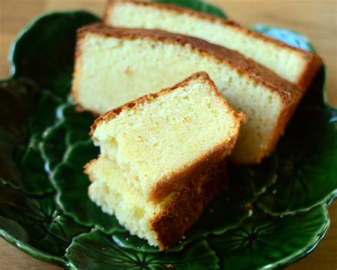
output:
[[[60,99],[23,80],[0,82],[0,179],[25,193],[53,191],[38,142]]]

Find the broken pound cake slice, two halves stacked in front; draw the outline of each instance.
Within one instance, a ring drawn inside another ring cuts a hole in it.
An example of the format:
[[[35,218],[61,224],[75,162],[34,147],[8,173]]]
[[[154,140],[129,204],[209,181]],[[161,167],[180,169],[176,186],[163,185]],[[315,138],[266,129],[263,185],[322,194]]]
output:
[[[225,185],[218,166],[242,119],[205,72],[103,114],[91,130],[100,156],[85,166],[90,198],[131,234],[171,247]]]

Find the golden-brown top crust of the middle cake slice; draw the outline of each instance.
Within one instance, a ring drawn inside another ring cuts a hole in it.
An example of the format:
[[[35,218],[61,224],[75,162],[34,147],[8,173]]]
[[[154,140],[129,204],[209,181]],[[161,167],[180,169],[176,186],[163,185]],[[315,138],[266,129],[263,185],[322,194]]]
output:
[[[159,41],[173,43],[178,45],[190,45],[193,50],[198,53],[213,57],[215,60],[230,65],[231,68],[237,70],[242,76],[246,76],[253,80],[256,84],[264,85],[269,90],[277,92],[285,103],[291,102],[294,95],[301,95],[302,91],[298,87],[291,84],[287,80],[282,79],[274,72],[264,68],[262,65],[245,58],[235,50],[229,50],[219,45],[214,45],[203,41],[199,38],[183,36],[169,33],[161,30],[149,29],[133,29],[133,28],[113,28],[102,25],[101,23],[85,26],[77,31],[77,38],[81,39],[87,33],[95,33],[107,37],[126,38],[126,39],[149,39],[151,41]]]

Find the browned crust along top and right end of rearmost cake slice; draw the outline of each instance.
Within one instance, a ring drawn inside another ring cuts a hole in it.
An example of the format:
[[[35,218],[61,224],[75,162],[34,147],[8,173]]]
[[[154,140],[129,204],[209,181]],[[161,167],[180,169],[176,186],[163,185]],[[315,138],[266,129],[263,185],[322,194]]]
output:
[[[224,20],[222,18],[211,16],[211,15],[201,13],[198,11],[192,11],[191,9],[184,9],[180,6],[174,6],[171,4],[160,4],[160,3],[154,3],[150,1],[144,1],[144,0],[109,0],[107,9],[105,10],[105,18],[104,18],[105,23],[108,23],[109,12],[112,11],[112,9],[114,8],[114,5],[120,2],[126,2],[126,3],[129,2],[135,5],[139,5],[139,6],[149,6],[149,7],[153,7],[156,9],[162,9],[162,10],[175,12],[178,14],[183,13],[188,16],[200,18],[202,20],[205,20],[211,23],[221,24],[226,27],[230,26],[232,28],[235,28],[235,31],[238,31],[244,34],[245,36],[252,36],[266,43],[269,43],[271,45],[277,45],[280,48],[286,48],[287,50],[294,51],[298,53],[299,55],[301,55],[301,57],[304,60],[306,60],[306,68],[303,70],[301,76],[299,77],[296,83],[296,85],[302,90],[306,90],[306,88],[309,87],[311,81],[314,79],[314,76],[316,75],[316,72],[319,70],[319,68],[321,67],[323,63],[319,55],[311,53],[308,50],[301,50],[300,48],[293,47],[291,45],[283,43],[282,41],[278,41],[277,39],[270,38],[268,36],[263,36],[260,33],[257,33],[255,31],[251,31],[247,28],[242,27],[239,23],[236,23],[235,21]]]

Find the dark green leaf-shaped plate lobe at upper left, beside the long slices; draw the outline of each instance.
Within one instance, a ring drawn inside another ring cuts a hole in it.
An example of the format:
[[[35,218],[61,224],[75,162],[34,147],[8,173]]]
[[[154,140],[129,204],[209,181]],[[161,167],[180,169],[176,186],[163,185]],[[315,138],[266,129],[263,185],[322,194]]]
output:
[[[66,98],[73,75],[76,30],[97,21],[100,18],[85,11],[54,12],[36,18],[14,43],[12,75],[28,77]]]

